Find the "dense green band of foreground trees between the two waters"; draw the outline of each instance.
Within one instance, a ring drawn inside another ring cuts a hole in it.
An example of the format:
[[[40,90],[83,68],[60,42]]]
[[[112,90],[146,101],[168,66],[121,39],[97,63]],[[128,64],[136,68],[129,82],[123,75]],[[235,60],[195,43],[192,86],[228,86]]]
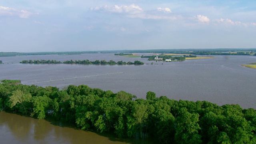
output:
[[[2,80],[0,109],[74,123],[82,130],[112,132],[117,137],[154,137],[160,143],[255,144],[256,111],[238,104],[171,100],[147,92],[146,99],[86,85],[28,86]],[[48,114],[48,110],[53,110]]]

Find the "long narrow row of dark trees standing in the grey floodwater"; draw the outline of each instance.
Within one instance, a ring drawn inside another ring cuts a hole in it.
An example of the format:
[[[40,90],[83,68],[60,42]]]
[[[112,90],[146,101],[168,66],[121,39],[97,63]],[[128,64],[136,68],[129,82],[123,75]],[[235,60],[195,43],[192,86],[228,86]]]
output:
[[[95,60],[95,61],[90,61],[90,60],[66,60],[64,62],[60,62],[60,61],[56,61],[56,60],[22,60],[20,62],[21,64],[101,64],[101,65],[114,65],[114,64],[118,64],[118,65],[143,65],[144,62],[140,62],[138,60],[135,60],[134,62],[123,62],[118,61],[115,62],[113,60],[110,60],[108,62],[106,62],[106,60]]]

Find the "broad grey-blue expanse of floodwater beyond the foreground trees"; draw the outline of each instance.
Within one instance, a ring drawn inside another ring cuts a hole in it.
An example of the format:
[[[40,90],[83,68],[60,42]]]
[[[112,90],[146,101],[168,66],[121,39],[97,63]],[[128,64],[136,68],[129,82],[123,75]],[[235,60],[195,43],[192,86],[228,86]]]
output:
[[[145,55],[145,54],[144,54]],[[85,84],[92,88],[124,90],[146,98],[146,92],[174,100],[206,100],[223,104],[239,104],[256,108],[256,69],[241,64],[256,62],[256,56],[214,56],[211,59],[182,62],[155,62],[147,58],[128,58],[114,54],[42,55],[2,57],[0,80],[21,80],[22,84],[56,86]],[[79,65],[79,64],[19,64],[22,60],[114,60],[145,64]]]

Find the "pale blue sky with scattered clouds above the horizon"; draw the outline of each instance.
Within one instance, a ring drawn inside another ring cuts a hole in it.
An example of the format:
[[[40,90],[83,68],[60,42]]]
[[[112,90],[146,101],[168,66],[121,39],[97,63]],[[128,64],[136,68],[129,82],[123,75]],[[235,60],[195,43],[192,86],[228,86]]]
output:
[[[256,0],[0,0],[0,52],[256,48]]]

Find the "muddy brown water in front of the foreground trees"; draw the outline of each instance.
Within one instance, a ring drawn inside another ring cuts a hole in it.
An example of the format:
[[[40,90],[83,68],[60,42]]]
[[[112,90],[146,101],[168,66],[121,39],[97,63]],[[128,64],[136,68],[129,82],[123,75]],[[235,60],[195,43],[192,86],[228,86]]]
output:
[[[0,112],[1,144],[150,144],[144,139],[118,139],[17,114]]]

